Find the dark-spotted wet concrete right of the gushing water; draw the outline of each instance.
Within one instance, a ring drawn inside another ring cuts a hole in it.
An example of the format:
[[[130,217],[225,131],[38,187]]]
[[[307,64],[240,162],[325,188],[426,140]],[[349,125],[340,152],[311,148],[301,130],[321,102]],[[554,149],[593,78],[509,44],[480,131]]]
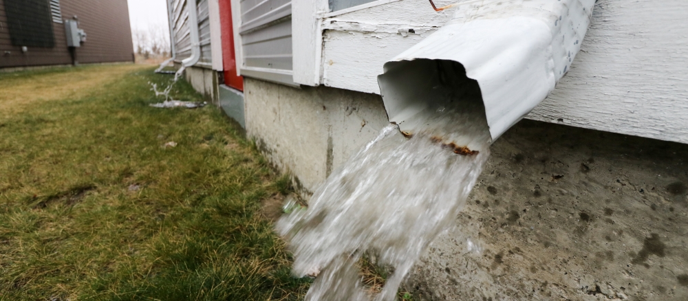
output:
[[[420,300],[688,300],[688,145],[524,120],[492,152]]]

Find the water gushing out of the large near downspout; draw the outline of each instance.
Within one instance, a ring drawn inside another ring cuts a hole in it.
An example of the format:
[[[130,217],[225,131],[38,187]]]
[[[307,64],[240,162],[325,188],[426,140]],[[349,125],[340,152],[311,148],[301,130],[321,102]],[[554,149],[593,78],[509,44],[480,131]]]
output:
[[[482,104],[463,105],[433,108],[410,138],[385,127],[327,178],[308,209],[279,220],[294,274],[319,274],[307,300],[394,300],[424,249],[453,225],[489,156]],[[444,141],[449,133],[480,152],[466,155]],[[377,296],[365,291],[356,265],[365,253],[394,269]]]

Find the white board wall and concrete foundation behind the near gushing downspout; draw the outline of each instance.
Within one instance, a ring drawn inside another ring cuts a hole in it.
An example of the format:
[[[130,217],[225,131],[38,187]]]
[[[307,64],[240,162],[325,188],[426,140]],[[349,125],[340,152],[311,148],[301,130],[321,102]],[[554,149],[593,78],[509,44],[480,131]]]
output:
[[[323,41],[292,30],[294,41],[321,47],[308,53],[322,56],[294,51],[294,62],[317,62],[294,78],[320,85],[249,77],[243,103],[248,137],[308,198],[387,125],[375,80],[385,61],[449,14],[407,0],[340,12],[306,4],[294,7],[314,8],[319,23],[304,32],[321,32]],[[675,0],[598,1],[574,67],[528,117],[544,122],[523,120],[493,144],[457,227],[407,278],[414,297],[688,298],[685,8]],[[294,28],[303,18],[294,12]]]

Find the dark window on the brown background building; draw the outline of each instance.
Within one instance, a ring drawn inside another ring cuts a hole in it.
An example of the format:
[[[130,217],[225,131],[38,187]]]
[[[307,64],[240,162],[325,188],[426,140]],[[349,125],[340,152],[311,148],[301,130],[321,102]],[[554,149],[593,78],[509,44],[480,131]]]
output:
[[[55,47],[50,4],[46,0],[4,0],[14,46]]]

